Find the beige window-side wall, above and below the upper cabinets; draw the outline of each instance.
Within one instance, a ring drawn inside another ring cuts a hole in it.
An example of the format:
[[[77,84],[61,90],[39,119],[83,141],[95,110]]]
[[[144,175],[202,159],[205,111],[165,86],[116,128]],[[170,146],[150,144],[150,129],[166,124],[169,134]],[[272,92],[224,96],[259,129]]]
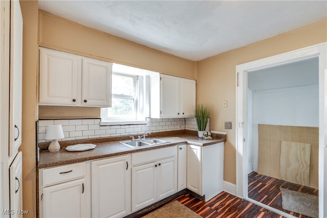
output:
[[[196,62],[194,61],[150,49],[45,11],[39,12],[39,45],[164,74],[196,79]],[[99,118],[100,109],[39,108],[39,118],[81,117]]]

